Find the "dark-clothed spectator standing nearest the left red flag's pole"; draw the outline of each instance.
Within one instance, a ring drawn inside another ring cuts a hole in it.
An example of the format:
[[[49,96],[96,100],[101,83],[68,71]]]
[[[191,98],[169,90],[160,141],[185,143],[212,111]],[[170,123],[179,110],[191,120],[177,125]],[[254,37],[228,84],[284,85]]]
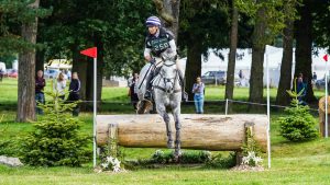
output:
[[[73,79],[69,85],[69,96],[68,96],[68,101],[69,102],[76,102],[80,99],[79,96],[79,91],[80,91],[80,80],[78,78],[78,73],[74,72],[73,73]],[[74,109],[73,109],[73,116],[78,116],[79,115],[79,105],[77,105]]]

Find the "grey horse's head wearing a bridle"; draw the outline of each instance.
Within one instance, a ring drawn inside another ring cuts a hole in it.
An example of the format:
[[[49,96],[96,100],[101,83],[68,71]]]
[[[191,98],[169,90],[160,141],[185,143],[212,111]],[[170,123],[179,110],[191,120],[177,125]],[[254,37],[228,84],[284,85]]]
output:
[[[165,59],[160,71],[162,80],[164,80],[164,89],[167,93],[172,93],[177,80],[177,68],[174,59]]]

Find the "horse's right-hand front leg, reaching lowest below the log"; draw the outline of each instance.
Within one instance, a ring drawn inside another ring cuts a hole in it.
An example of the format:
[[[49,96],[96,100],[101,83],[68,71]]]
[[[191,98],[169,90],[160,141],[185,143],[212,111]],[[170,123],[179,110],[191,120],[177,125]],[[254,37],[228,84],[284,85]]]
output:
[[[182,123],[180,123],[180,105],[175,105],[173,108],[173,117],[175,122],[175,152],[174,155],[176,160],[182,155],[180,147],[182,147],[182,137],[180,137],[180,129],[182,129]]]

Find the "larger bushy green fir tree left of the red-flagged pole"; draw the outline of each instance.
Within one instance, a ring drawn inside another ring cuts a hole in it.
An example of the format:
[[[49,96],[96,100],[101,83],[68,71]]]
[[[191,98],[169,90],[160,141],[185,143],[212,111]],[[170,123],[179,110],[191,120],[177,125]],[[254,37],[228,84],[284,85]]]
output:
[[[79,166],[90,159],[90,152],[86,148],[88,137],[78,132],[81,123],[66,113],[77,103],[65,104],[57,93],[46,94],[52,101],[38,105],[45,116],[34,123],[35,130],[22,139],[21,159],[36,166]]]

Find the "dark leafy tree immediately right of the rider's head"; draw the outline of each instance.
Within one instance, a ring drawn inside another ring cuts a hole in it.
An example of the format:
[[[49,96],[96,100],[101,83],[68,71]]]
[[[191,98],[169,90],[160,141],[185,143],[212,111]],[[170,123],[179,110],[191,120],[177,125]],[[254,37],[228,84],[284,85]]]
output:
[[[182,50],[187,50],[186,91],[191,100],[191,86],[201,74],[200,56],[208,56],[209,48],[217,53],[228,45],[228,11],[224,2],[208,0],[182,1],[180,8],[178,45]]]

